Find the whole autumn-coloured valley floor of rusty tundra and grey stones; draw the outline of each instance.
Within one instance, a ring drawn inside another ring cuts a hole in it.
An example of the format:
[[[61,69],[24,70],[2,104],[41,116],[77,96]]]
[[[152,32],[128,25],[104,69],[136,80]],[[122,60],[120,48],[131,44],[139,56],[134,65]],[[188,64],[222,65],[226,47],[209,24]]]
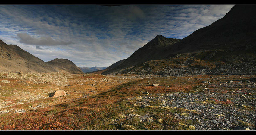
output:
[[[255,130],[255,78],[0,72],[0,130]]]

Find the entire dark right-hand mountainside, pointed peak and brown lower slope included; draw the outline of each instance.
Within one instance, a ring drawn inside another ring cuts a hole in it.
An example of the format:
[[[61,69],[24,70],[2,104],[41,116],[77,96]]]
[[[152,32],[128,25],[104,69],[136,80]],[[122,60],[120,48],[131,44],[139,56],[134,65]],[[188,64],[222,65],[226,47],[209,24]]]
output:
[[[170,68],[252,74],[256,67],[255,9],[256,5],[235,5],[223,18],[172,45],[167,38],[157,35],[122,64],[102,74],[155,73]]]

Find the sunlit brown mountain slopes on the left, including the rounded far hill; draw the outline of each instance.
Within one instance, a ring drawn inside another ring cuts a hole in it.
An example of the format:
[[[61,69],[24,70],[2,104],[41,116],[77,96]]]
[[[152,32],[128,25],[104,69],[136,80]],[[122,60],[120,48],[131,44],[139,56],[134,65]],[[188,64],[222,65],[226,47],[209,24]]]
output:
[[[73,62],[67,59],[55,59],[49,62],[35,57],[27,51],[24,51],[17,45],[7,45],[0,40],[0,71],[3,72],[65,72],[65,73],[83,73]]]

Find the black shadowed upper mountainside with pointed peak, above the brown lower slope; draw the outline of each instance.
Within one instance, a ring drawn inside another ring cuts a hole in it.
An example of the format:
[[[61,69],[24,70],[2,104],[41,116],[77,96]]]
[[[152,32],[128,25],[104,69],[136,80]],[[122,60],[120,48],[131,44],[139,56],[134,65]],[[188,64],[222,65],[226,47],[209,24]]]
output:
[[[117,72],[150,60],[173,59],[178,57],[177,54],[182,53],[196,54],[199,51],[218,49],[224,52],[232,51],[232,53],[222,53],[220,60],[225,57],[231,58],[236,51],[243,54],[254,53],[256,51],[255,9],[256,5],[235,5],[223,18],[196,30],[173,45],[168,45],[168,40],[163,40],[167,38],[158,35],[117,68],[102,74]]]

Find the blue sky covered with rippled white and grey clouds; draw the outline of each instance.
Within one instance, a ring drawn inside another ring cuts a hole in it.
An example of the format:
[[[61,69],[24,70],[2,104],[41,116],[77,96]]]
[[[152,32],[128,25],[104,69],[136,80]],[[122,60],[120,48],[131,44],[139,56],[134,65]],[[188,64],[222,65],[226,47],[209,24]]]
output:
[[[47,62],[108,67],[155,38],[183,39],[234,5],[0,5],[0,39]]]

